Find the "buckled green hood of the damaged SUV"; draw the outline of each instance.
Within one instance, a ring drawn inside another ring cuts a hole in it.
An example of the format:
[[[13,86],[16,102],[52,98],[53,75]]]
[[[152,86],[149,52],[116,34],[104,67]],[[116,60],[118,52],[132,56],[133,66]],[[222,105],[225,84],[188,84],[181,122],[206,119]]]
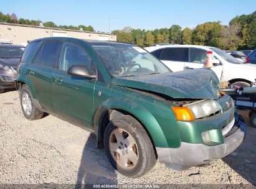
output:
[[[219,79],[209,68],[113,78],[113,85],[165,94],[171,98],[217,99]]]

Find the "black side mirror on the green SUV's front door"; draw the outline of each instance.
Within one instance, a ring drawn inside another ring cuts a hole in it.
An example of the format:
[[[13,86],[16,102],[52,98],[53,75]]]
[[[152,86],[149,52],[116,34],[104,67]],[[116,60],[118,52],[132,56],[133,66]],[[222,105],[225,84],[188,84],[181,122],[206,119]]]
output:
[[[69,70],[67,70],[67,74],[73,76],[80,76],[88,79],[96,79],[96,75],[90,75],[90,71],[88,70],[86,65],[72,65]]]

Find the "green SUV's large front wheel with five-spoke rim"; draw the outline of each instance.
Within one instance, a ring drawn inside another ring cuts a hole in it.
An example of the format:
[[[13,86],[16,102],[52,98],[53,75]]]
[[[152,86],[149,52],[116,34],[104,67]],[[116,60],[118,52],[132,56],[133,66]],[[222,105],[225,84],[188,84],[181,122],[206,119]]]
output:
[[[104,148],[111,165],[126,177],[141,177],[156,164],[156,153],[148,133],[140,122],[128,115],[108,123]]]

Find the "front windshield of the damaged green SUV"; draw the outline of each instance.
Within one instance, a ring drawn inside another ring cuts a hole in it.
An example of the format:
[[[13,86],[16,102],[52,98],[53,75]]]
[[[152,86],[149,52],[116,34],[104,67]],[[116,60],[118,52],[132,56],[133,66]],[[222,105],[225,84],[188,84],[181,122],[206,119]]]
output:
[[[128,44],[92,44],[112,76],[140,76],[170,72],[143,48]]]

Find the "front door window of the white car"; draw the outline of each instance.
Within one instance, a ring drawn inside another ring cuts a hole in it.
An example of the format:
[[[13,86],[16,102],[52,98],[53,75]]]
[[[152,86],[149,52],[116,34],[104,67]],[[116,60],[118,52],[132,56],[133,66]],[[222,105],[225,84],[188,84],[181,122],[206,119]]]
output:
[[[206,63],[207,51],[200,48],[189,48],[189,62]]]

